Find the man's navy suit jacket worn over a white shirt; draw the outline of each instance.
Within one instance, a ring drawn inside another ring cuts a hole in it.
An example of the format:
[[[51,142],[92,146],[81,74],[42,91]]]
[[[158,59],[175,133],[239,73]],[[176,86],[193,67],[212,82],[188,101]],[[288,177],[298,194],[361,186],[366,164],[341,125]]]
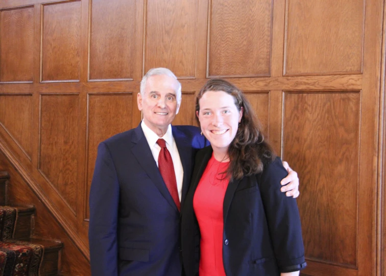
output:
[[[172,133],[184,171],[182,205],[195,154],[209,143],[194,126],[172,126]],[[98,147],[89,245],[94,276],[181,276],[180,213],[140,125]]]

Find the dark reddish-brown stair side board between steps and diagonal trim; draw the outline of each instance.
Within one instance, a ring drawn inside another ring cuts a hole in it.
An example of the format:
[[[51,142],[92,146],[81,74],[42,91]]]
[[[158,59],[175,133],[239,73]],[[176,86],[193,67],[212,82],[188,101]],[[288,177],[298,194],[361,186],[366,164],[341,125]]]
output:
[[[8,171],[11,176],[10,183],[12,184],[9,185],[8,189],[8,201],[18,204],[33,204],[36,208],[33,235],[57,239],[63,242],[64,247],[61,256],[62,272],[77,276],[91,275],[90,264],[86,257],[82,255],[50,210],[31,190],[27,182],[1,151],[0,168]]]

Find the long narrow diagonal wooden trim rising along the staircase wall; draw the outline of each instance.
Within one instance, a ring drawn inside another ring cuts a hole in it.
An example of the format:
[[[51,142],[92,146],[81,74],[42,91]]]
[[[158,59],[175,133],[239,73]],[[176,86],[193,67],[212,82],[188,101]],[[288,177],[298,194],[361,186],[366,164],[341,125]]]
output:
[[[23,166],[19,163],[16,157],[11,153],[11,151],[5,145],[4,140],[2,140],[1,138],[0,138],[0,150],[8,158],[9,162],[15,167],[16,171],[26,181],[27,185],[32,189],[32,191],[36,194],[36,196],[40,199],[40,201],[44,204],[44,206],[50,211],[50,213],[54,216],[54,218],[63,227],[64,231],[66,232],[68,237],[74,242],[75,246],[82,252],[82,254],[86,257],[86,259],[90,261],[90,253],[87,245],[85,245],[84,241],[80,238],[76,230],[73,229],[73,227],[71,227],[71,225],[69,225],[66,222],[63,216],[61,216],[60,212],[56,209],[55,205],[45,195],[44,191],[42,191],[42,189],[33,180],[33,178],[26,171],[26,169],[23,168]]]

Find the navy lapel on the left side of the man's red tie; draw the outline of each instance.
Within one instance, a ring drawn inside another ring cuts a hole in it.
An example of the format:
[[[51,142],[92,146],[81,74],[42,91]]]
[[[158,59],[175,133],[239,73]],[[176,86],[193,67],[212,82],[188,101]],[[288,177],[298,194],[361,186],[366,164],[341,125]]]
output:
[[[167,202],[169,202],[169,204],[176,211],[178,211],[176,203],[174,202],[172,196],[166,188],[165,182],[162,179],[161,173],[157,167],[157,163],[154,160],[152,151],[150,150],[148,141],[146,140],[140,125],[135,129],[135,134],[133,135],[131,142],[134,144],[134,146],[131,148],[131,152],[137,159],[139,165],[148,174],[154,185],[158,188]]]

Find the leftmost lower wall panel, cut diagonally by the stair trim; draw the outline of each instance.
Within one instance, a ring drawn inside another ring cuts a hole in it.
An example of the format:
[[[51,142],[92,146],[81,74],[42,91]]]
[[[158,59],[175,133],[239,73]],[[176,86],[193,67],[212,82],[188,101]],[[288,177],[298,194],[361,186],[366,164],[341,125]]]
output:
[[[0,94],[0,124],[31,159],[32,94]]]

